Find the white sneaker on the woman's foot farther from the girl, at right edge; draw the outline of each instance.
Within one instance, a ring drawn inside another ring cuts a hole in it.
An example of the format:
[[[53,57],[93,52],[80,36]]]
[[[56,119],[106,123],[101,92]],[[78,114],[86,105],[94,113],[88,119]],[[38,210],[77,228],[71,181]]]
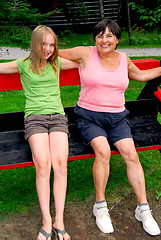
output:
[[[144,230],[150,235],[156,236],[160,234],[160,228],[152,216],[149,205],[144,205],[141,208],[137,206],[135,218],[142,222]]]

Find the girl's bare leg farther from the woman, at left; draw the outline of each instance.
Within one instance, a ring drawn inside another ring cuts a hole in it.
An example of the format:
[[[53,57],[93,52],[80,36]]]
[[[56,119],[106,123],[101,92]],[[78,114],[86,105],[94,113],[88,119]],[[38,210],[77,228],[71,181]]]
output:
[[[42,212],[42,228],[47,233],[50,233],[52,230],[50,215],[51,157],[48,133],[39,133],[30,136],[29,144],[36,169],[36,189]],[[42,233],[39,233],[39,240],[46,240]],[[51,238],[48,238],[48,240],[51,240]]]

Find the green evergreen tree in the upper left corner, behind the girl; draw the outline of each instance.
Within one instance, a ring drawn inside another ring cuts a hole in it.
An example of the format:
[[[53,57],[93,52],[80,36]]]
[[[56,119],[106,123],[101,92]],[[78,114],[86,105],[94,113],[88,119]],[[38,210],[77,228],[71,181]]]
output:
[[[41,14],[30,9],[27,0],[1,0],[0,8],[0,45],[30,46],[31,25],[39,25],[53,12]]]

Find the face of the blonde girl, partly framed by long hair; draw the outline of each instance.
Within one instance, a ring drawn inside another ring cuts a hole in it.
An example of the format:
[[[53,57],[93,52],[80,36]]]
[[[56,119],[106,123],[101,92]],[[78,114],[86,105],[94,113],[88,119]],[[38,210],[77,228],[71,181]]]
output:
[[[55,49],[54,44],[54,37],[51,34],[47,34],[47,36],[43,39],[42,46],[42,57],[46,60],[53,55]]]

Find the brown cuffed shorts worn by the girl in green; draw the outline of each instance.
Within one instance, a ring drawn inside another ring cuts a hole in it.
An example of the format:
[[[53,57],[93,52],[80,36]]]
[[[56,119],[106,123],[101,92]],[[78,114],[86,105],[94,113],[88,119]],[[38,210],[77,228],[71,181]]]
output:
[[[68,119],[62,114],[36,114],[29,115],[24,120],[25,139],[36,133],[50,133],[55,131],[68,131]]]

